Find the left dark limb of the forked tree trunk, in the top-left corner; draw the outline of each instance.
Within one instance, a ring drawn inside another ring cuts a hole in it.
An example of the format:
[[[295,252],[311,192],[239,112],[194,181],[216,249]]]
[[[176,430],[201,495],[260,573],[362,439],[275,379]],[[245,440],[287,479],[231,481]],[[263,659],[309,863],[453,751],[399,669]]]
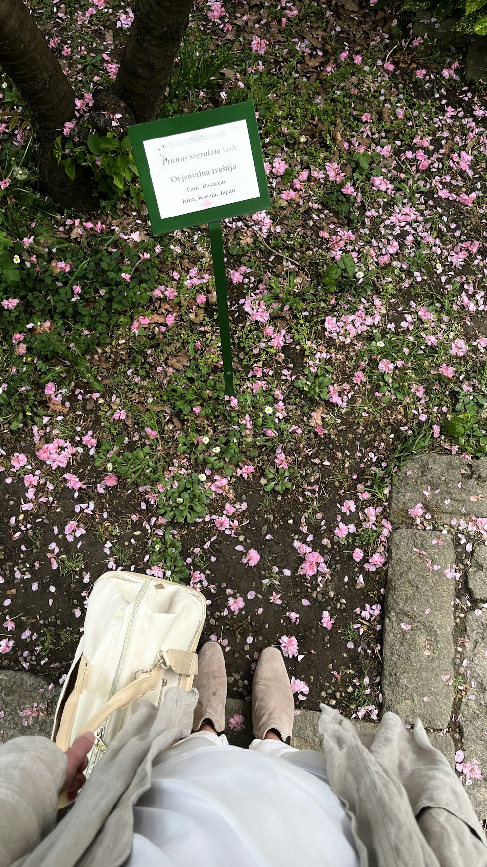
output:
[[[75,114],[75,91],[23,0],[0,0],[0,66],[29,105],[42,139]]]

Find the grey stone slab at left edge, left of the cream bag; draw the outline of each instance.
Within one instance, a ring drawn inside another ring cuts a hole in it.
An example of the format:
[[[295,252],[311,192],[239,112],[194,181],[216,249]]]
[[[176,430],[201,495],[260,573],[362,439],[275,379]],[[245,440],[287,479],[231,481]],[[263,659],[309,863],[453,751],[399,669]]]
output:
[[[53,715],[61,687],[48,689],[49,681],[28,671],[0,670],[0,732],[3,742],[24,734],[50,738]],[[42,690],[42,692],[41,692]],[[35,707],[37,706],[37,707]],[[24,711],[28,714],[24,714]],[[23,720],[28,725],[23,725]]]

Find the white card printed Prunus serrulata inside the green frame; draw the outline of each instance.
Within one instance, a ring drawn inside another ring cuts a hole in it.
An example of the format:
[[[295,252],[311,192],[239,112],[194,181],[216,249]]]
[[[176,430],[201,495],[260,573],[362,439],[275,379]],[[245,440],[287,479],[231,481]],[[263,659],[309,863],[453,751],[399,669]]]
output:
[[[257,199],[246,121],[144,141],[161,219]]]

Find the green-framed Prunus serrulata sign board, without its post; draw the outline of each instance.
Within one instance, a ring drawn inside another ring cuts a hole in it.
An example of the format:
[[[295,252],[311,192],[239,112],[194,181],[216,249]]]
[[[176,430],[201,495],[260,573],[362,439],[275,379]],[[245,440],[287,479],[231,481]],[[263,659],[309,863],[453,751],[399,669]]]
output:
[[[154,234],[270,205],[252,101],[128,130]]]

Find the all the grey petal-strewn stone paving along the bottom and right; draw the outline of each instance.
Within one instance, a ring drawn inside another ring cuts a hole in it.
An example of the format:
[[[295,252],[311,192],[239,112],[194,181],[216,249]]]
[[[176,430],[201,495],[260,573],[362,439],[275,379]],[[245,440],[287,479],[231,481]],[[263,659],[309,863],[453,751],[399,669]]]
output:
[[[466,792],[484,821],[487,520],[477,518],[487,518],[487,459],[423,455],[394,478],[381,688],[383,710],[410,724],[419,716],[452,767],[458,750],[465,763],[478,762],[484,779],[474,779]],[[0,670],[2,740],[49,737],[59,692],[37,675]],[[228,724],[236,714],[244,719],[232,731]],[[293,746],[322,752],[319,718],[318,711],[300,709]],[[249,746],[250,701],[229,699],[226,721],[231,743]],[[377,725],[357,721],[367,733]]]

